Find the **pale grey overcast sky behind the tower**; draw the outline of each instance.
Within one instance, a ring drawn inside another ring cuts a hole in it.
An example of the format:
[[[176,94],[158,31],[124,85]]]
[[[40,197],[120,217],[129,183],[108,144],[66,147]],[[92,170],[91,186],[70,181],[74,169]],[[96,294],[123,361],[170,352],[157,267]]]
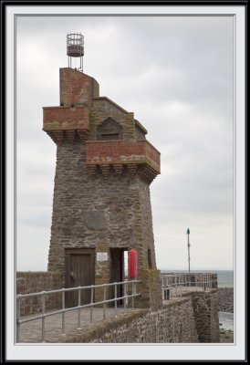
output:
[[[157,266],[233,268],[233,18],[17,18],[17,270],[47,270],[56,144],[42,130],[59,105],[66,35],[85,36],[84,72],[134,112],[161,151],[151,183]]]

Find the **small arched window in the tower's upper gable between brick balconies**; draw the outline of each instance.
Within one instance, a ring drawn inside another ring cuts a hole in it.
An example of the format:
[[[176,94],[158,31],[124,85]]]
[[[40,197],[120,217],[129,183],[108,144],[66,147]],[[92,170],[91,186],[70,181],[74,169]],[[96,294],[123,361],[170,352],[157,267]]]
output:
[[[120,124],[112,118],[108,118],[99,125],[97,139],[98,141],[122,140],[122,135]]]

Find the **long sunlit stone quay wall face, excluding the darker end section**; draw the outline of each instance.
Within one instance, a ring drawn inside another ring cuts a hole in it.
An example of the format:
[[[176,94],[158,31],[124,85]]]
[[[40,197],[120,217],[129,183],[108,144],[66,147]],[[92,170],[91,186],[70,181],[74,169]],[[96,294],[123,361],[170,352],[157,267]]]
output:
[[[118,318],[75,330],[60,342],[78,343],[195,343],[192,297],[168,302],[158,310],[133,309]]]

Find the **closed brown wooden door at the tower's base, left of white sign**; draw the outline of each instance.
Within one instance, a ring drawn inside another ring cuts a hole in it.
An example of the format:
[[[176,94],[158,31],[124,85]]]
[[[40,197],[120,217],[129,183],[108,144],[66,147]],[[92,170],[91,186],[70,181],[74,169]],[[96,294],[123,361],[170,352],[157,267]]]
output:
[[[95,250],[66,249],[66,287],[87,287],[95,284]],[[78,306],[78,290],[66,293],[67,307]],[[81,305],[90,303],[91,289],[81,290]]]

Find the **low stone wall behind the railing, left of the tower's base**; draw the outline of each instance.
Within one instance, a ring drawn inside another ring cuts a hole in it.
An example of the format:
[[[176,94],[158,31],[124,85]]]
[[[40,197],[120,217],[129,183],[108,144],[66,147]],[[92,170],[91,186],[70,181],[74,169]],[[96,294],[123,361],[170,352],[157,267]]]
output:
[[[64,286],[63,277],[59,273],[46,271],[17,272],[16,293],[39,293],[46,290],[56,290]],[[20,301],[20,315],[41,312],[41,297],[24,297]],[[51,294],[46,296],[46,309],[61,308],[61,295]]]

